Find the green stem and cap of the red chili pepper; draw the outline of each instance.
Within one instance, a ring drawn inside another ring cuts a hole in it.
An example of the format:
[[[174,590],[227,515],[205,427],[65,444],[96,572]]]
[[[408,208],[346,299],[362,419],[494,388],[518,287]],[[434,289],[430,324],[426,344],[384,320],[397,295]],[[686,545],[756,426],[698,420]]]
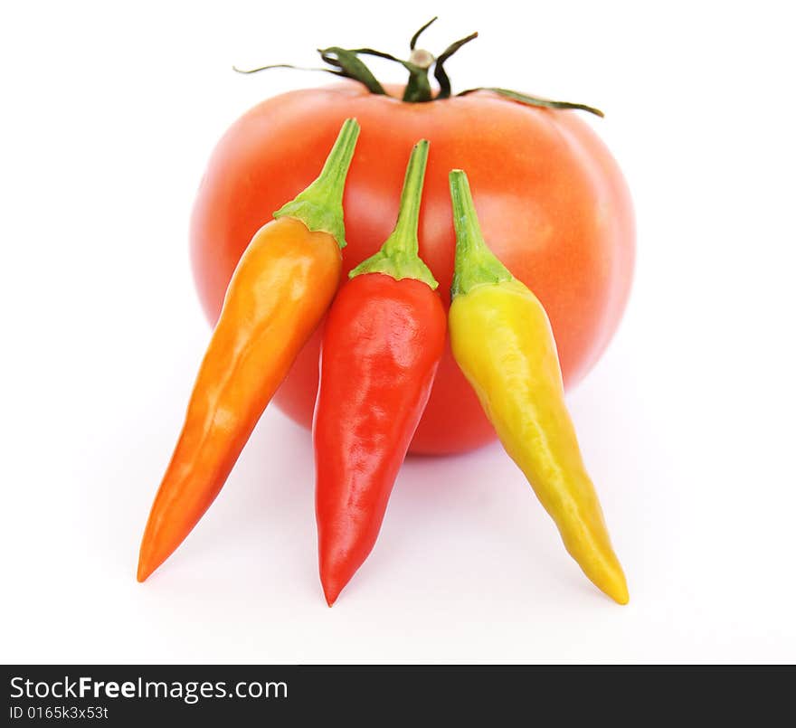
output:
[[[422,280],[432,290],[440,285],[418,255],[417,229],[428,156],[429,143],[421,139],[409,157],[409,165],[403,178],[398,221],[395,222],[392,234],[377,253],[364,260],[348,274],[350,278],[363,273],[384,273],[396,280],[404,278]]]

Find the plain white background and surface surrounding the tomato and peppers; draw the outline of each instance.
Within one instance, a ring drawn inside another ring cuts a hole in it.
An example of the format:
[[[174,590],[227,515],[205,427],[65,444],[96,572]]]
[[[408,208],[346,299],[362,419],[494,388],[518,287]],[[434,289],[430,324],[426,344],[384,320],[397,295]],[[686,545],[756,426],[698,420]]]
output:
[[[0,660],[794,661],[786,7],[4,4]],[[569,402],[630,605],[583,578],[495,445],[408,461],[329,610],[308,433],[274,408],[201,525],[138,584],[209,336],[187,254],[204,163],[260,99],[328,82],[232,63],[402,52],[432,13],[432,51],[481,33],[450,61],[459,89],[607,111],[588,120],[628,177],[638,266],[618,336]]]

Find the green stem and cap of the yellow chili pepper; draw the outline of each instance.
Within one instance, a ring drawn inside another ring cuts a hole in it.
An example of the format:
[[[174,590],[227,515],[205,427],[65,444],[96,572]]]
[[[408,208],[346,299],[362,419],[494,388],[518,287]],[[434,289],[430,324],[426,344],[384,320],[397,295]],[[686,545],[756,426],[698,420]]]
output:
[[[451,300],[469,293],[472,288],[511,280],[506,266],[487,247],[481,234],[478,214],[469,191],[467,175],[454,169],[448,177],[453,227],[456,230],[456,258],[453,264]]]

